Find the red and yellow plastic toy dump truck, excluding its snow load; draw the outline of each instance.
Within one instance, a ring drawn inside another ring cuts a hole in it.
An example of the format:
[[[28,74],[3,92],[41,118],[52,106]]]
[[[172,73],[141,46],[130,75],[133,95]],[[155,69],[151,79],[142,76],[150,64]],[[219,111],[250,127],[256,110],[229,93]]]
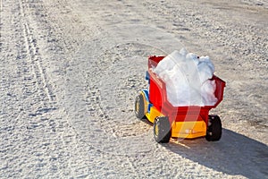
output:
[[[193,139],[205,137],[207,141],[219,141],[222,137],[222,122],[218,115],[209,115],[223,98],[225,81],[217,76],[214,95],[218,98],[214,106],[173,107],[167,100],[165,83],[152,71],[164,56],[150,56],[146,79],[148,89],[142,90],[135,101],[135,113],[139,119],[147,118],[154,124],[155,141],[169,142],[171,138]]]

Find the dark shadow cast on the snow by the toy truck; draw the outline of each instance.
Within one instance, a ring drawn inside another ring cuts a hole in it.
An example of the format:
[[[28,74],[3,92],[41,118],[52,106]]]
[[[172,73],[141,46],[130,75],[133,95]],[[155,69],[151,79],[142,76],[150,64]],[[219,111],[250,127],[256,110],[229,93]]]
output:
[[[173,141],[166,149],[200,165],[229,175],[265,178],[268,175],[268,147],[237,132],[222,130],[222,139]]]

